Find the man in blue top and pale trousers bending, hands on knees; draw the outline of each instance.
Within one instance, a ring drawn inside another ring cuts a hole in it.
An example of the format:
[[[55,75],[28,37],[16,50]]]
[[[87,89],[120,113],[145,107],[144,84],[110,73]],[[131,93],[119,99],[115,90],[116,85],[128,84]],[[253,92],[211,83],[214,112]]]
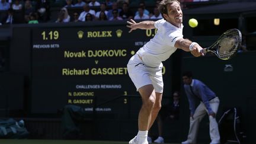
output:
[[[203,82],[193,79],[191,72],[183,73],[183,82],[190,103],[190,129],[187,140],[182,144],[196,143],[199,123],[206,113],[209,115],[210,121],[210,139],[212,140],[210,144],[220,143],[219,128],[215,118],[219,108],[219,98]],[[197,108],[195,107],[195,99],[201,101]]]

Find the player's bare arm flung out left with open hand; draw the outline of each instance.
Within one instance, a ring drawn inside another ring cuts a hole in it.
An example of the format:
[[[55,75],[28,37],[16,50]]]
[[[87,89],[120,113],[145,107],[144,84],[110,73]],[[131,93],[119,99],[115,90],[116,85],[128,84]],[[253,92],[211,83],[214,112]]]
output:
[[[130,28],[130,32],[133,30],[136,30],[137,28],[142,29],[142,30],[147,30],[147,29],[153,29],[155,28],[155,21],[142,21],[140,23],[136,23],[134,20],[127,21],[126,27]]]

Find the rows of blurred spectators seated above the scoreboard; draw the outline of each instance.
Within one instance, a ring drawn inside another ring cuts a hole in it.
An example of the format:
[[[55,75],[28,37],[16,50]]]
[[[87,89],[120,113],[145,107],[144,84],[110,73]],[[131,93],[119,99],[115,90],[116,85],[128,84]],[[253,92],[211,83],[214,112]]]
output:
[[[0,24],[159,19],[161,0],[0,0]],[[209,0],[180,0],[180,2]],[[53,13],[52,9],[59,8]]]

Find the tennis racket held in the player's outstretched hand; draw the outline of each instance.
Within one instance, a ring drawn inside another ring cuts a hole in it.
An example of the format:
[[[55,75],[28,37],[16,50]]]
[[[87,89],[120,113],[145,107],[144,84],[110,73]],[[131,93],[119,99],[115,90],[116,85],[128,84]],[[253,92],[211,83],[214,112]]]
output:
[[[242,34],[238,29],[225,31],[212,46],[204,48],[200,53],[212,52],[222,60],[231,59],[241,46]]]

